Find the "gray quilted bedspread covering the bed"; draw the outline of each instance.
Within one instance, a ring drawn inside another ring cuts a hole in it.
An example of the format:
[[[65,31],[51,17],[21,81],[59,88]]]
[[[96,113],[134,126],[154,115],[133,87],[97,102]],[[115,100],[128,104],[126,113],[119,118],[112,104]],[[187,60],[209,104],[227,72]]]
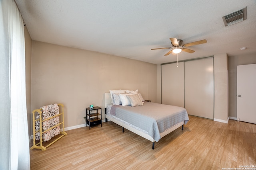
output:
[[[181,121],[186,124],[189,120],[183,107],[153,102],[144,102],[142,106],[136,107],[112,106],[110,114],[147,131],[156,142],[161,138],[160,133]]]

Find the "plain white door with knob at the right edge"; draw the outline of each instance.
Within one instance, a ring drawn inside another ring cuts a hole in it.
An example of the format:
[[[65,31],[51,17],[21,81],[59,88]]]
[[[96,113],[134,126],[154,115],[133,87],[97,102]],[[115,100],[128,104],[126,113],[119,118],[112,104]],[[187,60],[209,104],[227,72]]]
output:
[[[256,64],[236,68],[237,119],[256,124]]]

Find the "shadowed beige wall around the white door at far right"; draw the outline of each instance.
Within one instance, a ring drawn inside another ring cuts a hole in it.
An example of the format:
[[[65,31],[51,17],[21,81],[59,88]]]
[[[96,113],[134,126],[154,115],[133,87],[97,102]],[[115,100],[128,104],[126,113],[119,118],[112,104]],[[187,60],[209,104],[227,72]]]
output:
[[[236,66],[244,64],[255,64],[256,54],[228,57],[229,66],[229,116],[236,119]]]

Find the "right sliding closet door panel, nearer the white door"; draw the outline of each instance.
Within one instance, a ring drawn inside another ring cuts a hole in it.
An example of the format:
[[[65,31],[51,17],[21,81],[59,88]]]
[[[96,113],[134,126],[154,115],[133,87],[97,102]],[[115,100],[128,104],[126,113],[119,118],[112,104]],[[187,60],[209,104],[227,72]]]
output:
[[[214,69],[213,58],[184,63],[185,109],[188,114],[213,119]]]

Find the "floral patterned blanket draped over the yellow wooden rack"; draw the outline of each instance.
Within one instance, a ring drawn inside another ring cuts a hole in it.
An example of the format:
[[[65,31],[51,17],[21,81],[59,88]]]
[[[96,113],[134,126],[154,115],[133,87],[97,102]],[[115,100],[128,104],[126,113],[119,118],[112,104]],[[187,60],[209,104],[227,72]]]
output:
[[[43,106],[41,107],[42,109],[42,138],[43,141],[49,141],[50,139],[52,139],[52,137],[54,137],[55,135],[60,134],[60,126],[58,125],[60,123],[60,117],[56,116],[53,117],[55,115],[59,114],[59,106],[58,104],[51,104],[48,106]],[[40,114],[38,113],[36,116],[36,119],[39,119]],[[53,117],[51,119],[48,119],[50,117]],[[44,121],[45,119],[48,119],[46,121]],[[58,125],[56,127],[54,127],[55,125]],[[49,131],[46,131],[47,129],[50,129]],[[36,131],[38,131],[40,129],[40,121],[36,121]],[[46,131],[46,132],[44,132]],[[38,133],[36,133],[36,140],[40,139],[40,131]]]

